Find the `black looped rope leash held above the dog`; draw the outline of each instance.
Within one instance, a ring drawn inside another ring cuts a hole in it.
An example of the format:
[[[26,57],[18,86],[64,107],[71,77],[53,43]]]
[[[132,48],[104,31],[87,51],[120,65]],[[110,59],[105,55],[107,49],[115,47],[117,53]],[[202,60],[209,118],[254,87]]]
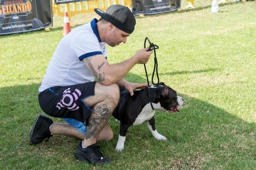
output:
[[[153,70],[153,74],[152,74],[152,79],[151,79],[151,81],[152,81],[152,84],[157,85],[157,84],[159,83],[159,76],[158,76],[158,69],[157,69],[157,68],[158,68],[158,64],[157,64],[157,55],[156,55],[156,53],[155,53],[155,50],[158,49],[159,47],[158,47],[158,45],[155,45],[155,44],[151,43],[150,40],[148,39],[148,37],[146,37],[146,38],[145,38],[145,41],[144,41],[144,48],[146,48],[146,43],[147,43],[147,41],[148,41],[148,43],[150,44],[150,46],[149,46],[149,48],[148,48],[148,51],[154,50],[154,55],[155,55],[155,58],[154,58],[154,70]],[[153,105],[152,105],[151,98],[150,98],[150,84],[149,84],[149,81],[148,81],[148,73],[147,73],[146,64],[144,64],[144,68],[145,68],[146,77],[147,77],[147,82],[148,82],[148,97],[149,97],[149,100],[150,100],[151,108],[154,110],[154,107],[153,107]],[[155,74],[155,72],[156,72],[156,74],[157,74],[157,83],[156,83],[156,84],[154,83],[154,74]]]

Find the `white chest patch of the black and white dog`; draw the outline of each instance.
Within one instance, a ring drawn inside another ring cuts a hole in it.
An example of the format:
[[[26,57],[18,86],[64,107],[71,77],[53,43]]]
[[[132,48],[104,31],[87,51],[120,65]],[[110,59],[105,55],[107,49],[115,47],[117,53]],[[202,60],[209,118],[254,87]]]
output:
[[[138,117],[135,119],[135,122],[133,125],[140,125],[145,120],[151,119],[155,115],[155,110],[152,110],[150,103],[144,106],[144,108],[141,110],[141,113],[138,115]]]

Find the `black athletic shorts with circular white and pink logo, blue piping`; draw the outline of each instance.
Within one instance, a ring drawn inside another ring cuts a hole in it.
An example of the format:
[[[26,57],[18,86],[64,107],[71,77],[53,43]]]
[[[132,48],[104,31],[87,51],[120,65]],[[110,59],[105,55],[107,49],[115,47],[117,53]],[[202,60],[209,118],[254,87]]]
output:
[[[76,119],[86,126],[92,109],[83,102],[83,99],[94,95],[95,83],[45,89],[38,95],[39,105],[49,116]]]

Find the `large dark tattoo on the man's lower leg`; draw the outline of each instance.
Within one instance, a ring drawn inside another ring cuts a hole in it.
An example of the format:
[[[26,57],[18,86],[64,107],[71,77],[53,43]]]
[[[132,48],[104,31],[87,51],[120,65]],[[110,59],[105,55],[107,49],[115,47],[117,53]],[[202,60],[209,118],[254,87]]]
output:
[[[108,122],[111,113],[111,108],[107,107],[105,104],[96,104],[93,106],[92,115],[88,119],[88,126],[86,126],[85,139],[89,139],[92,136],[95,138],[98,137],[99,133]]]

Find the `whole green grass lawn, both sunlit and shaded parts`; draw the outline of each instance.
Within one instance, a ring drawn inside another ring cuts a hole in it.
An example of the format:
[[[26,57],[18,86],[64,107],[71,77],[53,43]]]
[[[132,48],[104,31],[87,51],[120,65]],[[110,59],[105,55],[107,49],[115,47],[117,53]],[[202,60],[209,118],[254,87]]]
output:
[[[157,112],[156,140],[145,123],[128,129],[123,152],[116,152],[119,124],[109,123],[114,139],[101,142],[112,164],[93,166],[74,159],[79,140],[55,135],[29,145],[33,121],[42,112],[38,88],[62,38],[63,18],[50,31],[0,36],[0,169],[256,169],[256,1],[219,6],[195,1],[196,9],[136,17],[126,44],[108,47],[110,64],[143,48],[145,37],[157,50],[160,81],[185,99],[180,113]],[[72,17],[75,26],[95,13]],[[72,27],[73,29],[74,27]],[[147,70],[151,77],[154,59]],[[126,79],[146,82],[143,65]],[[62,122],[59,118],[53,118]]]

